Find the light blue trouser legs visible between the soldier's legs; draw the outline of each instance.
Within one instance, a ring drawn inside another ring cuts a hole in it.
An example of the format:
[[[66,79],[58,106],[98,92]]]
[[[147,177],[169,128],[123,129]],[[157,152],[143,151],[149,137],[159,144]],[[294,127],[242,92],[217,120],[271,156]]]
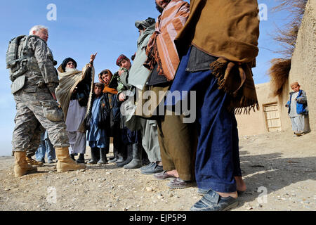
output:
[[[55,148],[53,147],[51,141],[49,141],[46,132],[47,131],[41,134],[41,143],[39,143],[39,148],[37,149],[37,152],[35,153],[35,157],[37,158],[37,161],[44,160],[45,153],[47,153],[48,160],[55,160],[56,158]]]

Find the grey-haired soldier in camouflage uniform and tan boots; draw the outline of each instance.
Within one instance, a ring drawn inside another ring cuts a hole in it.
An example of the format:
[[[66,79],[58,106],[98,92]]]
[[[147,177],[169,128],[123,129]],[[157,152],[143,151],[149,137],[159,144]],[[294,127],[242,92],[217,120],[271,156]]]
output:
[[[15,176],[37,170],[36,167],[27,164],[26,151],[32,148],[31,141],[36,139],[38,122],[48,131],[49,139],[56,150],[57,171],[83,169],[84,165],[79,165],[70,158],[63,113],[55,100],[58,77],[54,68],[53,54],[46,44],[48,30],[38,25],[30,30],[30,35],[37,37],[22,38],[18,51],[19,57],[22,57],[22,52],[27,56],[27,71],[22,74],[25,78],[22,78],[22,85],[20,85],[20,77],[22,77],[20,76],[13,80],[11,86],[17,111],[12,140]],[[15,81],[18,79],[17,84]]]

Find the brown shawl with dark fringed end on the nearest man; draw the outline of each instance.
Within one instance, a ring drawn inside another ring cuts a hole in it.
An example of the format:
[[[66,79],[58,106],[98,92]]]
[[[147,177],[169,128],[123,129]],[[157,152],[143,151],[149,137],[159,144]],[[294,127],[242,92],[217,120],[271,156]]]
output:
[[[211,56],[219,89],[231,96],[229,108],[237,113],[258,109],[251,68],[258,56],[258,3],[256,0],[191,0],[190,16],[175,44],[180,56],[193,44]]]

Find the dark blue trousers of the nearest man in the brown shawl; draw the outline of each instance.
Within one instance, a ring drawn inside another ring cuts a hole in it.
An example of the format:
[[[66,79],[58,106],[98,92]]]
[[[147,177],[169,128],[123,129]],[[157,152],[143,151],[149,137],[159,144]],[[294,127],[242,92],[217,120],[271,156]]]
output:
[[[189,57],[190,50],[180,62],[171,91],[197,91],[197,186],[223,193],[235,192],[234,176],[242,176],[235,114],[225,107],[228,94],[218,90],[217,79],[211,70],[185,70]]]

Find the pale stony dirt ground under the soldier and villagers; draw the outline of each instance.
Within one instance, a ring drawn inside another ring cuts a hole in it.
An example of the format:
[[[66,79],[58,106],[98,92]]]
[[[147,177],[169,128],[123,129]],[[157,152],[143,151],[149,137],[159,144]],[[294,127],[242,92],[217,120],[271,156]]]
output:
[[[241,137],[247,191],[234,210],[316,210],[315,140],[316,132],[296,137],[290,130]],[[89,154],[87,150],[86,160]],[[45,164],[37,174],[15,178],[13,162],[0,157],[1,211],[187,211],[202,198],[197,186],[171,190],[169,180],[114,163],[65,173]]]

